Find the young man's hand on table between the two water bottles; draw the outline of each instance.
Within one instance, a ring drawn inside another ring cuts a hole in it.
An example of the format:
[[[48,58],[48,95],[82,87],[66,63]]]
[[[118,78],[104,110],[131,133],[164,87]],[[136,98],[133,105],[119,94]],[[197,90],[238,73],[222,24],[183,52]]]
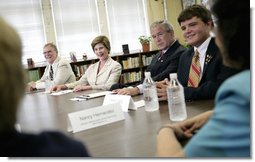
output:
[[[156,82],[156,88],[157,88],[157,95],[159,101],[167,101],[167,86],[168,86],[168,79],[165,79],[160,82]]]

